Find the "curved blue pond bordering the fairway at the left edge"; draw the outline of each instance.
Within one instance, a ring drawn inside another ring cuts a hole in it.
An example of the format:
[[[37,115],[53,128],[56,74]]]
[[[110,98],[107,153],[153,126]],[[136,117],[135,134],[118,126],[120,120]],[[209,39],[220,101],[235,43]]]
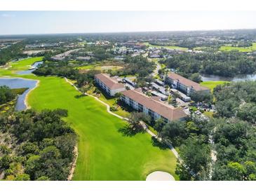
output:
[[[25,97],[29,90],[32,90],[36,86],[36,81],[34,80],[27,80],[23,78],[0,78],[0,86],[6,85],[9,88],[29,88],[22,95],[18,96],[17,104],[15,109],[18,111],[22,111],[26,109],[25,105]]]

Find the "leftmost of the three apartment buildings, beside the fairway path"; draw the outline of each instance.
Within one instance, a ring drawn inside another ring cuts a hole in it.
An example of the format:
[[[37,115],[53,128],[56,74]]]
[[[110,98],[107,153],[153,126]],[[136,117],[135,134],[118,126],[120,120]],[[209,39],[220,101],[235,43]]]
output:
[[[108,74],[96,74],[95,81],[111,96],[114,96],[117,92],[126,90],[124,84],[119,83],[116,78],[112,78]]]

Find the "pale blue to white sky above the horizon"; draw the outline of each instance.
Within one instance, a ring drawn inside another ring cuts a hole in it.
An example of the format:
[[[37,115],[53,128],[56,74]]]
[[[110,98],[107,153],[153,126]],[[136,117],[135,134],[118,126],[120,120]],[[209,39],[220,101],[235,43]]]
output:
[[[0,34],[256,28],[256,11],[0,11]]]

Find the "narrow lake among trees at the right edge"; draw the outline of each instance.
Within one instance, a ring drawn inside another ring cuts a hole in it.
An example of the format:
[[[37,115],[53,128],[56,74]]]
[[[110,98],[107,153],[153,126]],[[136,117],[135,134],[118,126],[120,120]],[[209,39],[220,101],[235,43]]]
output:
[[[224,77],[224,76],[215,76],[215,75],[206,75],[201,74],[203,81],[255,81],[256,74],[243,74],[234,77]]]

